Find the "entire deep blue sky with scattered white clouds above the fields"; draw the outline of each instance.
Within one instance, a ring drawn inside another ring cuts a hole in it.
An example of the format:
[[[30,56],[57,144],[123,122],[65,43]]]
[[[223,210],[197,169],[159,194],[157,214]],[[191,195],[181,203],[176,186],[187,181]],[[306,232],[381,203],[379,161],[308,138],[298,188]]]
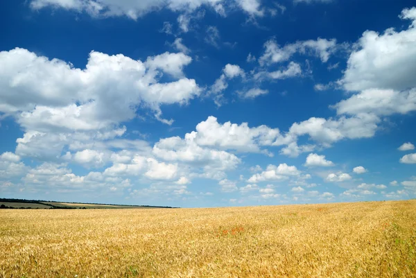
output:
[[[416,196],[413,1],[0,3],[0,196]]]

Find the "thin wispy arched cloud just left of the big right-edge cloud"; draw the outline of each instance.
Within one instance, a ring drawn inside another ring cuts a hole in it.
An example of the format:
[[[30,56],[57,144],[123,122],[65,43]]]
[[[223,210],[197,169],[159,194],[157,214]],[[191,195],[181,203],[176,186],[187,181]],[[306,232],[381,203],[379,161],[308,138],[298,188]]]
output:
[[[313,55],[327,62],[330,55],[337,50],[336,40],[326,40],[318,37],[317,40],[306,40],[286,44],[281,47],[275,40],[268,40],[264,44],[265,51],[259,58],[259,63],[272,64],[289,60],[295,53]]]

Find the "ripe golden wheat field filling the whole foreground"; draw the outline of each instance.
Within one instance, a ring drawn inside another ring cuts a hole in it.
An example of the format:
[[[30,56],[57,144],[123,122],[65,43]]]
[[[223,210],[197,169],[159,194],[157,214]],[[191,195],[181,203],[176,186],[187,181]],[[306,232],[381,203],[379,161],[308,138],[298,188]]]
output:
[[[416,200],[3,209],[0,277],[416,277]]]

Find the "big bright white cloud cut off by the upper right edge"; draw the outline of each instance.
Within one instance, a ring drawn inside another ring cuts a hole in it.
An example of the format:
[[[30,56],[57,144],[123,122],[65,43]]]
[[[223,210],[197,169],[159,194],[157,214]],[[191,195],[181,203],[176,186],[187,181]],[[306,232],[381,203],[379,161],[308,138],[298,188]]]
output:
[[[416,8],[404,9],[401,19],[410,19],[407,30],[388,28],[384,33],[365,31],[349,56],[341,80],[349,91],[416,87]],[[398,107],[400,109],[400,107]]]

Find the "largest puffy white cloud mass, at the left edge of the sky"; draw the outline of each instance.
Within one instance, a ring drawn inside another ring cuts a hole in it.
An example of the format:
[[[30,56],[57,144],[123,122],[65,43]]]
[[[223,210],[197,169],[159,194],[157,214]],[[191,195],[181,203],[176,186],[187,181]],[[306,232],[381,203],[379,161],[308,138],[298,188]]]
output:
[[[141,62],[92,51],[85,69],[76,69],[26,49],[1,51],[0,112],[37,131],[107,128],[134,118],[139,104],[160,119],[159,105],[186,104],[200,94],[195,80],[179,78],[189,62],[183,53],[163,53]],[[157,82],[162,72],[179,79]]]

